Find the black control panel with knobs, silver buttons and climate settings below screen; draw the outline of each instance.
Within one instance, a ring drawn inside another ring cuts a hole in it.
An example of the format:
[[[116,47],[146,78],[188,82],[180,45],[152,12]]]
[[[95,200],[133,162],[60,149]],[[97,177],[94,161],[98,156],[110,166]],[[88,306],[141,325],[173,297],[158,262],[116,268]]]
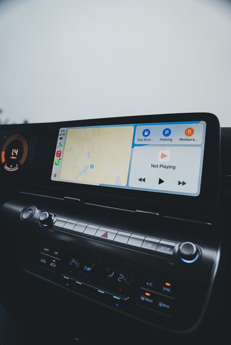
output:
[[[76,298],[178,332],[203,313],[215,251],[199,238],[167,237],[164,223],[158,229],[149,218],[104,218],[62,205],[8,201],[2,214],[14,229],[20,221],[21,267]]]

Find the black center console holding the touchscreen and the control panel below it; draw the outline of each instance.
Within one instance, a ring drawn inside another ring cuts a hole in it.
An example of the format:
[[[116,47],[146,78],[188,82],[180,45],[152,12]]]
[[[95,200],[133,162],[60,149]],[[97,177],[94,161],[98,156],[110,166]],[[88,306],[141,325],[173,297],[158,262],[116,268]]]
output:
[[[25,272],[162,329],[197,327],[219,264],[217,118],[27,126],[0,132],[1,217]]]

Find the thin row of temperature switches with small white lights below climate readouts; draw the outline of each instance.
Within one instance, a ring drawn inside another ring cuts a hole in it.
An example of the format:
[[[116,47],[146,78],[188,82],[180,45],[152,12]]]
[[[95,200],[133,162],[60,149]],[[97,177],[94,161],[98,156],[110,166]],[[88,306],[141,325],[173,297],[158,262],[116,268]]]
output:
[[[78,289],[80,286],[82,286],[82,287],[86,286],[90,289],[94,289],[94,291],[96,293],[108,296],[108,297],[113,298],[117,301],[126,302],[129,300],[129,296],[117,295],[117,294],[110,292],[110,291],[107,291],[107,290],[105,290],[99,286],[93,286],[91,284],[83,282],[83,280],[75,279],[75,278],[69,277],[65,274],[62,274],[62,280],[63,280],[64,286],[68,287],[68,288],[73,288],[74,286],[76,286]]]

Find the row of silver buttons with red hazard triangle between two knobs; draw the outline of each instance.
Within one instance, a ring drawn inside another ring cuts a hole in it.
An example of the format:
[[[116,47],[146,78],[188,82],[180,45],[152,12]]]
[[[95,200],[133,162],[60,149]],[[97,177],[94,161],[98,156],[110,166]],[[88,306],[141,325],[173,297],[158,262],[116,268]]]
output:
[[[176,246],[174,242],[135,235],[61,217],[56,218],[52,227],[78,236],[93,238],[120,247],[140,250],[145,253],[155,254],[155,252],[158,252],[158,255],[163,256],[166,254],[172,255]]]

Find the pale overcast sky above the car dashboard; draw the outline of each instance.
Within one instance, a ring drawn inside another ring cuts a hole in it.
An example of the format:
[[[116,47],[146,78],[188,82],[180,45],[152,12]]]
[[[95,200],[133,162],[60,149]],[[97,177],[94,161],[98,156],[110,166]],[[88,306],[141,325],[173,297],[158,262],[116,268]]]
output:
[[[231,127],[231,2],[0,1],[2,121],[212,112]]]

